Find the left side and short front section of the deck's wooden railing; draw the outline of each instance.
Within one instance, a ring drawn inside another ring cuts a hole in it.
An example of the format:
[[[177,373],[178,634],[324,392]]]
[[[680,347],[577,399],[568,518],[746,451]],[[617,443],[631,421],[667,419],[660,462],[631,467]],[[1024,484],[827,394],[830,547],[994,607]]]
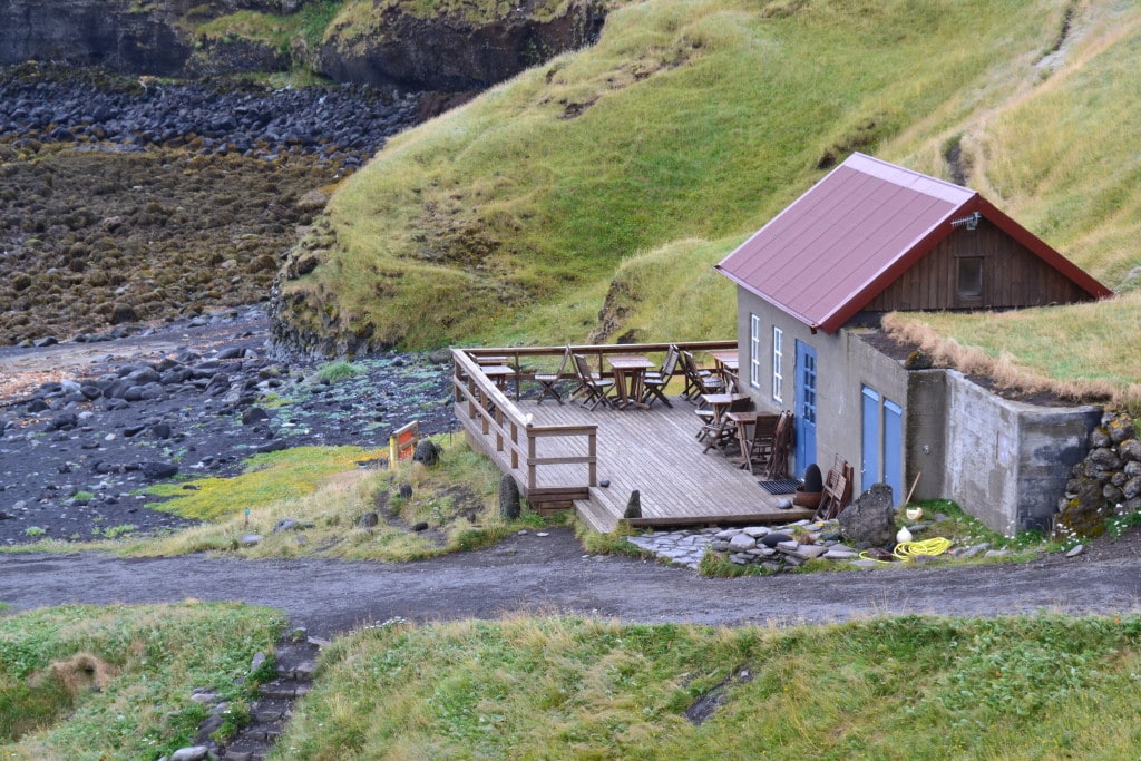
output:
[[[491,355],[491,356],[503,356]],[[528,499],[544,489],[553,492],[585,491],[598,485],[598,426],[537,426],[520,412],[496,384],[484,374],[480,365],[462,349],[453,349],[456,418],[474,436],[491,443],[488,454],[501,465],[524,478],[516,478]],[[516,357],[518,363],[518,357]],[[532,375],[533,377],[533,375]],[[518,386],[518,383],[517,383]],[[585,439],[585,454],[560,454],[541,456],[539,440],[544,438],[566,439],[569,451],[574,439]],[[540,483],[540,468],[544,465],[584,465],[583,476],[574,483]]]

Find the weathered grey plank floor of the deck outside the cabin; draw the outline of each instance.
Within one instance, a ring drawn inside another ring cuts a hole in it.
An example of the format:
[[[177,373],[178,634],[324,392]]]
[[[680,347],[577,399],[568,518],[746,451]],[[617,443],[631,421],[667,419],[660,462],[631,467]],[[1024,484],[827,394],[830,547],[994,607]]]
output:
[[[718,451],[703,454],[704,445],[694,438],[699,427],[695,406],[680,398],[671,400],[673,408],[658,403],[650,410],[622,411],[588,411],[576,402],[560,406],[523,400],[517,405],[536,424],[598,427],[598,479],[609,480],[609,487],[590,487],[589,499],[574,500],[578,515],[596,531],[614,531],[633,489],[641,497],[642,519],[631,521],[638,526],[787,523],[811,517],[811,510],[777,508],[782,497],[762,489],[759,477]],[[504,472],[510,471],[505,453],[496,453],[494,446],[484,448],[491,450],[488,454]],[[540,439],[536,454],[582,454],[574,448],[566,439],[545,438]],[[582,465],[551,465],[543,477],[550,486],[577,483]]]

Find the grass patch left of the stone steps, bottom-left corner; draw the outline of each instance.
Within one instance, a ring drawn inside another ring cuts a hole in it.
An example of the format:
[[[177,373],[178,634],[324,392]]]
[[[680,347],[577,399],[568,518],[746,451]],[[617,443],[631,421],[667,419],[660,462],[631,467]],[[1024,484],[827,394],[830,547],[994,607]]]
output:
[[[0,755],[170,754],[207,718],[194,689],[216,689],[234,718],[246,710],[250,662],[273,653],[282,626],[266,608],[200,602],[0,617]]]

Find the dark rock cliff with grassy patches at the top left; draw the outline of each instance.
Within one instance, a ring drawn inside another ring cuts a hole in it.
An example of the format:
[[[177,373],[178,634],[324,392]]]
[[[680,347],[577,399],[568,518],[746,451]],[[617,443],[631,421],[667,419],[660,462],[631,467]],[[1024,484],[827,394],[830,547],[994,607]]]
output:
[[[389,0],[354,3],[353,14],[331,15],[318,44],[300,35],[272,41],[245,34],[240,25],[225,34],[201,32],[203,24],[238,10],[253,11],[267,27],[289,27],[290,15],[304,5],[0,0],[0,64],[51,60],[159,76],[310,68],[339,82],[458,92],[486,88],[591,42],[604,18],[598,0],[529,0],[475,11],[479,7],[469,5],[463,14],[416,11],[411,2]]]

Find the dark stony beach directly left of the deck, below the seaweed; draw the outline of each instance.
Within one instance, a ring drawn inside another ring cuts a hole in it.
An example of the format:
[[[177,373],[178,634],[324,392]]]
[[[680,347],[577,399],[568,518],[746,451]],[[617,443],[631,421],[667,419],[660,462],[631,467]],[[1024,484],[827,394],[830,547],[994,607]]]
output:
[[[382,448],[413,420],[451,429],[447,353],[361,359],[353,378],[325,382],[319,363],[274,359],[266,341],[265,315],[246,309],[0,349],[0,544],[177,528],[189,521],[140,489],[235,475],[286,447]]]

